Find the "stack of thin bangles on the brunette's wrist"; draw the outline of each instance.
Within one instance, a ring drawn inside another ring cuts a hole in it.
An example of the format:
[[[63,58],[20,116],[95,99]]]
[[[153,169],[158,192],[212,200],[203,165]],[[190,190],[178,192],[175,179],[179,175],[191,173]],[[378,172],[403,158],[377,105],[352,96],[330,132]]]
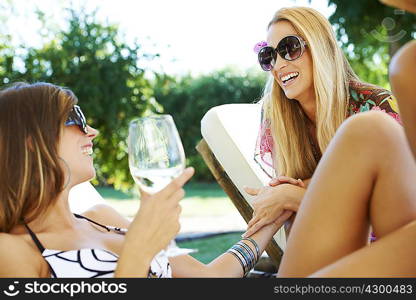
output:
[[[253,249],[243,241],[249,241],[256,249],[254,253]],[[243,268],[244,276],[247,276],[248,272],[254,268],[257,261],[260,258],[260,250],[256,241],[252,238],[243,238],[237,244],[228,249],[227,253],[231,253],[240,262]]]

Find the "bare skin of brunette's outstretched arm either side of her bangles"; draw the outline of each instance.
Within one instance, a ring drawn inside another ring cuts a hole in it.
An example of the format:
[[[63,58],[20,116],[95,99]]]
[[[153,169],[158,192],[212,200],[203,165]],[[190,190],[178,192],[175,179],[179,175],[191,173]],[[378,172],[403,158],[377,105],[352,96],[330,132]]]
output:
[[[258,244],[260,253],[264,251],[281,223],[272,223],[264,226],[251,236]],[[244,241],[254,253],[256,250],[249,241]],[[169,258],[174,277],[242,277],[243,268],[240,262],[231,253],[224,253],[209,264],[203,264],[189,255]]]

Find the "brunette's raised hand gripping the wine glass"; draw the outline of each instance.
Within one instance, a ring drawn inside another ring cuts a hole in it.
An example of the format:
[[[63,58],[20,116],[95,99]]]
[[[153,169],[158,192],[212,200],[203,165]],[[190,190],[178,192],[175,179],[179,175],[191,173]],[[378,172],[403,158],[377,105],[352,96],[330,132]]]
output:
[[[140,245],[137,251],[141,255],[153,259],[179,232],[179,200],[185,195],[182,187],[193,174],[194,169],[187,168],[160,192],[142,195],[140,209],[126,235],[130,243]]]

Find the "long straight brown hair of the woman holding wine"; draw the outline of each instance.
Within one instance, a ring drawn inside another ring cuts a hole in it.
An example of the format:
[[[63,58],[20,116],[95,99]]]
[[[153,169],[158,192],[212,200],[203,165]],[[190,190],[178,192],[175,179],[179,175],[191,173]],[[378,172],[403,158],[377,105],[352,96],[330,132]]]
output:
[[[49,83],[16,83],[0,91],[0,232],[32,221],[65,184],[57,145],[77,98]]]

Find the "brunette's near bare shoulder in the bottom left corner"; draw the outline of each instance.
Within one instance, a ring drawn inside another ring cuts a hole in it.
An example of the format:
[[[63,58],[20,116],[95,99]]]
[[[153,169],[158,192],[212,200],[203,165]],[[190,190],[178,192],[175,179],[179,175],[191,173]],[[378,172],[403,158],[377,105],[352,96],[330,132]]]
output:
[[[41,277],[42,256],[23,238],[0,233],[0,277]]]

